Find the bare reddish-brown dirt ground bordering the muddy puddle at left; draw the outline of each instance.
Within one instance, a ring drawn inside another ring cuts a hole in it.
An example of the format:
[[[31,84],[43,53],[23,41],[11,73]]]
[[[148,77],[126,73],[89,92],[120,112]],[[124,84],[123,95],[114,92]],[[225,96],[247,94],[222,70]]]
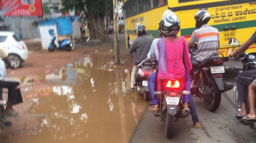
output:
[[[43,76],[47,73],[54,72],[55,69],[63,67],[68,63],[74,63],[77,59],[82,58],[84,55],[114,55],[113,38],[111,37],[109,38],[108,42],[98,46],[86,46],[84,43],[76,43],[76,49],[71,52],[58,50],[55,50],[52,53],[48,51],[39,52],[35,47],[28,47],[28,50],[29,58],[23,64],[23,67],[15,70],[8,69],[7,76],[17,77],[20,79],[28,75]],[[126,49],[123,48],[121,52],[125,50]],[[131,55],[123,55],[123,58],[126,59],[126,61],[127,56],[131,57]],[[129,60],[128,63],[131,62],[132,61]],[[34,84],[44,86],[41,85],[41,83]],[[38,131],[41,125],[41,117],[44,117],[44,115],[35,115],[29,113],[29,110],[35,105],[36,102],[26,100],[26,96],[30,93],[25,92],[24,88],[26,88],[26,85],[21,87],[22,96],[23,99],[25,99],[24,103],[14,106],[14,109],[19,112],[19,115],[14,118],[8,118],[8,120],[12,122],[12,127],[0,131],[0,142],[20,142],[20,140],[23,139],[26,135]],[[4,91],[4,99],[7,100],[7,90]]]

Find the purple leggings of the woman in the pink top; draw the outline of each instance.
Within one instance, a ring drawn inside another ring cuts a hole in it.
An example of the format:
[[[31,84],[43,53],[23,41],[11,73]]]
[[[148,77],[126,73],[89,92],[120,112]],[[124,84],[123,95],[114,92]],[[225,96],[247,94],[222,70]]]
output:
[[[190,91],[190,84],[191,84],[191,79],[189,76],[185,79],[185,89],[187,91]],[[154,95],[155,92],[155,85],[156,85],[156,72],[153,72],[148,76],[148,88],[149,88],[149,93],[152,97],[152,102],[153,104],[158,104],[158,98],[157,96]],[[189,96],[190,95],[184,95],[182,102],[188,102],[189,101]]]

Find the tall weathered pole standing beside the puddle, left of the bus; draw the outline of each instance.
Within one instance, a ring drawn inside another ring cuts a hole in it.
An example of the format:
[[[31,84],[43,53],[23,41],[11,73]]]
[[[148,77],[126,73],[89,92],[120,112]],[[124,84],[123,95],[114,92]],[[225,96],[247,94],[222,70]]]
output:
[[[115,62],[120,64],[119,57],[119,22],[118,22],[118,0],[113,0],[114,13],[114,45],[115,45]]]

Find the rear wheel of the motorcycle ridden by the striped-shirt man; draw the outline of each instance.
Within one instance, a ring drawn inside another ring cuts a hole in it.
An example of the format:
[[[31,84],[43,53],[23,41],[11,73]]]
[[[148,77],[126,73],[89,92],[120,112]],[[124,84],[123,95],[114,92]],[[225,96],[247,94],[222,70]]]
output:
[[[213,112],[213,111],[217,110],[220,106],[221,93],[220,93],[220,90],[217,87],[214,79],[212,79],[210,77],[209,80],[210,80],[210,88],[214,89],[214,90],[211,90],[212,96],[209,96],[208,100],[204,99],[204,106],[207,110]]]

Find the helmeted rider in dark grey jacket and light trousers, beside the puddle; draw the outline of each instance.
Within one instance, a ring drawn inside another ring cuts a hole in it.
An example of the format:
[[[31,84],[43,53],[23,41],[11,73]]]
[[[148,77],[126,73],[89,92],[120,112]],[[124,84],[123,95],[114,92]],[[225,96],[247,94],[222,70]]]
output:
[[[154,38],[152,36],[147,35],[147,31],[145,26],[141,24],[137,24],[135,26],[135,32],[138,35],[138,38],[134,39],[132,45],[129,49],[129,52],[132,54],[134,53],[134,66],[132,69],[132,76],[131,76],[131,92],[134,92],[134,84],[135,84],[135,72],[137,70],[137,65],[140,64],[144,59],[146,59],[147,54],[150,50],[150,45]]]

